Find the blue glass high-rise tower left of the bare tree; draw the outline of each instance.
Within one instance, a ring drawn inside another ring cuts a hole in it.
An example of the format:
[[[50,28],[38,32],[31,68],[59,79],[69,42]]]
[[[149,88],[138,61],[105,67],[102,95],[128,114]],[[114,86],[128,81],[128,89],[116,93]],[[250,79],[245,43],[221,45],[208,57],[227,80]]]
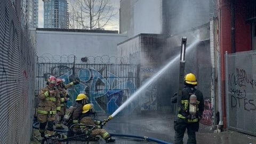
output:
[[[44,28],[68,28],[67,0],[43,0]]]

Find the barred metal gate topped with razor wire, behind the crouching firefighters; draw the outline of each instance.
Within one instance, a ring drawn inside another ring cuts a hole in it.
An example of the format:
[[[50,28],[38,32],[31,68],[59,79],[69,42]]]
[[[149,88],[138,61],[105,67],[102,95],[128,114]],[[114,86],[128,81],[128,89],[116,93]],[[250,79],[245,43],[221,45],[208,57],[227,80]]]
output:
[[[47,77],[53,75],[65,79],[68,84],[75,78],[80,83],[68,89],[68,106],[79,93],[85,93],[95,110],[107,113],[119,107],[138,86],[137,65],[121,57],[84,57],[74,55],[38,58],[36,64],[36,95],[46,86]],[[63,62],[65,61],[65,62]]]

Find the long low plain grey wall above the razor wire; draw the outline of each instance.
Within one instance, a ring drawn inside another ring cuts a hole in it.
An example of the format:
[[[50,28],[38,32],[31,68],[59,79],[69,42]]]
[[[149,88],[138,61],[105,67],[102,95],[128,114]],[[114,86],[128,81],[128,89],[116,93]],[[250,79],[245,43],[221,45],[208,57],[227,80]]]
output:
[[[77,58],[85,56],[117,55],[117,44],[123,42],[125,34],[83,33],[69,31],[36,31],[37,55],[74,54]]]

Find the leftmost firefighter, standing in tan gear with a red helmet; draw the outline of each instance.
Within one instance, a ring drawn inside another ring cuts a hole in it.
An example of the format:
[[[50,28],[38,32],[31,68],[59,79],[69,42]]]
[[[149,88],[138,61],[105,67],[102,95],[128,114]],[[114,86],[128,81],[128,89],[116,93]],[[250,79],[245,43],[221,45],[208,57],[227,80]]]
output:
[[[39,132],[41,137],[53,134],[53,123],[55,114],[60,110],[60,94],[55,90],[56,78],[50,76],[47,79],[46,87],[41,89],[38,98],[41,100],[38,104],[37,117],[39,121]],[[45,132],[45,127],[47,129]]]

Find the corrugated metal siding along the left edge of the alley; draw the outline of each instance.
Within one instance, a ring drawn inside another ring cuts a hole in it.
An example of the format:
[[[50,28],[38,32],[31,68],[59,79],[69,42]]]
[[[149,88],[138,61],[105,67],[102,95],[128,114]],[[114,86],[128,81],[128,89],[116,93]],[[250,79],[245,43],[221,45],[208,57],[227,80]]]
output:
[[[35,52],[15,7],[0,1],[0,143],[29,143],[34,114]]]

